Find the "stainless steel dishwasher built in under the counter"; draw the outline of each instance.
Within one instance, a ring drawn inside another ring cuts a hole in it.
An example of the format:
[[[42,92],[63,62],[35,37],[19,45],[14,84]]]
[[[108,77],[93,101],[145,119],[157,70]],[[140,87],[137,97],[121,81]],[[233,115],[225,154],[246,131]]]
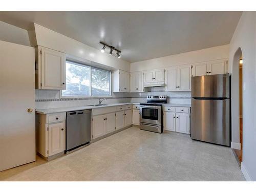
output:
[[[92,110],[67,112],[66,152],[91,141]]]

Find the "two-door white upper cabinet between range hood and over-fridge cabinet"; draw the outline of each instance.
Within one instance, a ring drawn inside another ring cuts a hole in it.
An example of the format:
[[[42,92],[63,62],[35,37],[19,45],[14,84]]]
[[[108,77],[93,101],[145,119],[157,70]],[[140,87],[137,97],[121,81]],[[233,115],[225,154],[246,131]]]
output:
[[[191,66],[176,66],[166,69],[165,91],[191,91]]]

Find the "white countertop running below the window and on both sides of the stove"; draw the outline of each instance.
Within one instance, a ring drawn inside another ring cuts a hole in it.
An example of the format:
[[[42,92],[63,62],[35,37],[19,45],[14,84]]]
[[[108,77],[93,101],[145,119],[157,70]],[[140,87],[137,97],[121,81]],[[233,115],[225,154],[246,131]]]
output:
[[[69,112],[69,111],[79,111],[79,110],[89,110],[89,109],[97,109],[97,108],[108,108],[109,106],[119,106],[119,105],[127,105],[127,104],[140,104],[140,103],[113,103],[102,106],[70,106],[65,108],[52,108],[52,109],[40,109],[36,110],[38,114],[50,114],[50,113],[61,113],[61,112]],[[180,104],[180,103],[166,103],[163,106],[186,106],[191,107],[191,104]]]

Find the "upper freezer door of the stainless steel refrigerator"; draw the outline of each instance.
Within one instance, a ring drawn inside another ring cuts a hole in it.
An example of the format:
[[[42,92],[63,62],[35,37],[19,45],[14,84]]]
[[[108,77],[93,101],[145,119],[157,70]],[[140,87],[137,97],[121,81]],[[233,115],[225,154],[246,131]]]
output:
[[[229,98],[229,74],[192,77],[191,96]]]

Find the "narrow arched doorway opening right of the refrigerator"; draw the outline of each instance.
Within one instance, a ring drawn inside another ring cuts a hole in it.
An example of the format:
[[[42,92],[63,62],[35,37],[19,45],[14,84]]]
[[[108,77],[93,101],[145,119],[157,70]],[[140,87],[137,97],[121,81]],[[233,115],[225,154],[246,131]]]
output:
[[[239,48],[233,57],[232,75],[231,75],[231,126],[232,126],[232,141],[231,147],[236,154],[240,165],[242,162],[242,127],[243,127],[243,101],[242,101],[242,65],[243,55],[242,50]]]

